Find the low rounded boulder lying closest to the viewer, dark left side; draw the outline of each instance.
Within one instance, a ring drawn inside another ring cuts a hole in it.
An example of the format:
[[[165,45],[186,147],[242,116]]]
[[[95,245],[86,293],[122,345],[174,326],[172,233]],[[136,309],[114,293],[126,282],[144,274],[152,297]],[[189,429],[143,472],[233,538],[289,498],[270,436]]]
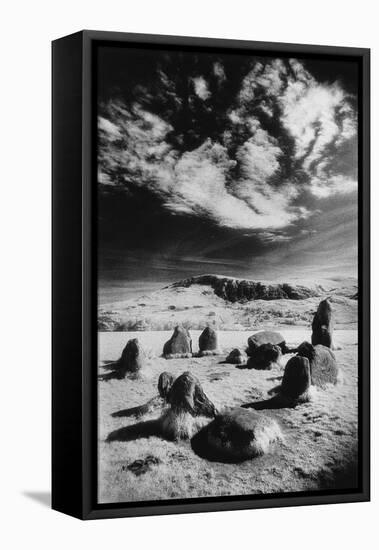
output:
[[[218,415],[207,426],[206,437],[216,458],[240,462],[267,453],[283,436],[273,418],[238,407]]]

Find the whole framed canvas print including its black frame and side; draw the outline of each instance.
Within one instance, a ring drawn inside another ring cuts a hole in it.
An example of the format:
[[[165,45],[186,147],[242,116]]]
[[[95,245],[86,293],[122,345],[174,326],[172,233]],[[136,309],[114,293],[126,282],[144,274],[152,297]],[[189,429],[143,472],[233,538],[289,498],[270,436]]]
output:
[[[369,50],[53,42],[53,508],[369,500]]]

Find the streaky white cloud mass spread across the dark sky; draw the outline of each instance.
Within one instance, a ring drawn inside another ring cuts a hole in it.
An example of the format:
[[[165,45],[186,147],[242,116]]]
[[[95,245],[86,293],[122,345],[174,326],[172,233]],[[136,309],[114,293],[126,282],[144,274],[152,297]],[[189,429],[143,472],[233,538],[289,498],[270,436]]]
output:
[[[104,189],[145,189],[174,215],[263,242],[290,240],[283,230],[318,201],[356,190],[357,115],[341,83],[318,81],[297,60],[255,59],[233,78],[214,59],[203,74],[166,65],[129,97],[101,102]]]

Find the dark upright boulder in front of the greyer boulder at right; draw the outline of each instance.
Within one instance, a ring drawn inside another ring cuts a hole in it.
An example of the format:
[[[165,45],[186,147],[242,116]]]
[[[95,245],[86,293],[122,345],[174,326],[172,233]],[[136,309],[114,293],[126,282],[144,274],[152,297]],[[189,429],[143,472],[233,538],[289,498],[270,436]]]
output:
[[[311,372],[309,360],[306,357],[295,356],[287,362],[280,395],[288,400],[288,404],[297,405],[310,400]]]

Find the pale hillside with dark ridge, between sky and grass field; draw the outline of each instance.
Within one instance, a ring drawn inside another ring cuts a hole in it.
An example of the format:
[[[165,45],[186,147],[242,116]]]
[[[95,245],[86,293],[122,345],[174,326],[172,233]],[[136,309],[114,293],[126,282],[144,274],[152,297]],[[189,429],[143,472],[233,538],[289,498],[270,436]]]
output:
[[[336,325],[357,322],[355,281],[290,284],[201,275],[177,281],[151,294],[99,309],[99,331],[189,329],[222,330],[309,326],[319,301],[329,297]]]

